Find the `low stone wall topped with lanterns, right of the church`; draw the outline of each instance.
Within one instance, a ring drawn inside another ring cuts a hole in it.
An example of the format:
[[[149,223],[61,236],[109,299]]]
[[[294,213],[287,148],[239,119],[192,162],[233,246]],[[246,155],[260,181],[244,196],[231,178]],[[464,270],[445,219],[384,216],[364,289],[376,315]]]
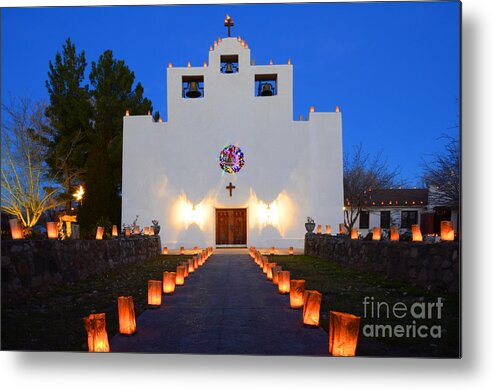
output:
[[[364,241],[310,233],[305,236],[305,254],[427,289],[459,291],[458,242]]]

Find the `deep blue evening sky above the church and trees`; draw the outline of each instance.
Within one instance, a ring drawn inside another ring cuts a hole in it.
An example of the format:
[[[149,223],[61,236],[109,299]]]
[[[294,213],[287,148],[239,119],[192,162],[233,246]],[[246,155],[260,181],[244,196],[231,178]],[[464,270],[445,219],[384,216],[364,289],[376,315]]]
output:
[[[2,100],[48,99],[48,63],[67,37],[90,63],[106,49],[166,114],[166,67],[200,66],[226,13],[257,64],[294,66],[293,118],[343,113],[344,152],[363,144],[420,185],[422,159],[458,136],[457,2],[15,8],[2,10]]]

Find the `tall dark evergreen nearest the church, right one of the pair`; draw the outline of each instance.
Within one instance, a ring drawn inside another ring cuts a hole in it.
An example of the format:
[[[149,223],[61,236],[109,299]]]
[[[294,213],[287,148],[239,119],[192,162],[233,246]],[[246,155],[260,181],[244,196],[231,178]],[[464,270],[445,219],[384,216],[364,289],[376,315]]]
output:
[[[101,218],[114,224],[121,220],[123,116],[152,112],[152,103],[144,97],[144,88],[123,60],[105,51],[92,63],[89,75],[94,109],[94,126],[89,135],[86,164],[86,192],[79,212],[83,228],[94,228]]]

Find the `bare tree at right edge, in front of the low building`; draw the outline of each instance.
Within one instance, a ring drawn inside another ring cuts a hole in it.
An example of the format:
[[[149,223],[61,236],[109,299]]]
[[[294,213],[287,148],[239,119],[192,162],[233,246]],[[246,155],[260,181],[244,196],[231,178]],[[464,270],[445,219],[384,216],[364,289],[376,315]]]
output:
[[[435,153],[431,161],[424,161],[423,181],[430,189],[430,203],[454,209],[460,204],[460,150],[459,142],[451,136],[446,139],[445,152]]]

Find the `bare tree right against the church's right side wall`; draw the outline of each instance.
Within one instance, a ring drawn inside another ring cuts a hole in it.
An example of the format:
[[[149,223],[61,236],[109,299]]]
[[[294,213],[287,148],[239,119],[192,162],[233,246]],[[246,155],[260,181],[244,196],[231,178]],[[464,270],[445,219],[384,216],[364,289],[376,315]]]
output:
[[[399,170],[389,169],[381,152],[371,158],[362,145],[354,147],[351,156],[344,156],[344,225],[348,231],[366,206],[369,190],[396,185],[398,175]]]

